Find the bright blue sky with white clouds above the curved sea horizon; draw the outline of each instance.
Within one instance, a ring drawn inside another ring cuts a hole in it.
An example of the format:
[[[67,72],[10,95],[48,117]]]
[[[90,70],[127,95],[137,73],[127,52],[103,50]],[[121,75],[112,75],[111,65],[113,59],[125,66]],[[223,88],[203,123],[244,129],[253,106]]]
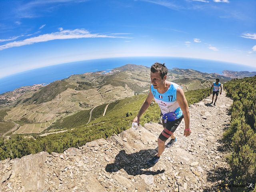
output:
[[[256,66],[255,10],[256,0],[0,0],[0,78],[123,56]]]

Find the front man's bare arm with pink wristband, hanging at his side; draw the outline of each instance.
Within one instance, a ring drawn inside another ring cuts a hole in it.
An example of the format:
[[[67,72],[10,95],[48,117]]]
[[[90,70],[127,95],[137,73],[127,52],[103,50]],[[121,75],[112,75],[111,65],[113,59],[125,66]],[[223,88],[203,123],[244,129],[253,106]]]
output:
[[[188,102],[186,100],[186,97],[181,87],[177,88],[176,100],[184,115],[185,129],[190,129],[190,114],[188,110]],[[184,135],[186,137],[190,136],[190,133],[191,133],[191,130],[188,130],[188,131],[184,130]]]

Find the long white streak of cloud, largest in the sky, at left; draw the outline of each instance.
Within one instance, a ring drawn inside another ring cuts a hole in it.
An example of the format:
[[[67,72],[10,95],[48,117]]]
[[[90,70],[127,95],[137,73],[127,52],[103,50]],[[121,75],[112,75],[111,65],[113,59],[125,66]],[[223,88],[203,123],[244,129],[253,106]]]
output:
[[[19,47],[23,45],[30,45],[39,42],[46,42],[56,39],[79,39],[79,38],[127,38],[120,36],[111,36],[111,35],[99,35],[99,34],[90,34],[85,29],[75,29],[75,30],[63,30],[63,28],[59,28],[60,32],[55,32],[51,34],[43,34],[37,37],[28,38],[21,41],[14,41],[8,44],[0,46],[0,50],[4,50],[11,47]]]

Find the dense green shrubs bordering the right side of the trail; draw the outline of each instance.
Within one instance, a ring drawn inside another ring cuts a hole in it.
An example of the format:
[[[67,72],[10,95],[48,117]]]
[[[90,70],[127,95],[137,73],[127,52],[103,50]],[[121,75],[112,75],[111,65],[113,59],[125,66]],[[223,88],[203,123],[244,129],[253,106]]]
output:
[[[232,154],[228,157],[231,178],[236,184],[255,184],[256,76],[227,82],[224,88],[227,90],[227,96],[234,101],[230,109],[230,127],[223,134],[224,142],[232,146]],[[253,191],[255,192],[256,188]]]

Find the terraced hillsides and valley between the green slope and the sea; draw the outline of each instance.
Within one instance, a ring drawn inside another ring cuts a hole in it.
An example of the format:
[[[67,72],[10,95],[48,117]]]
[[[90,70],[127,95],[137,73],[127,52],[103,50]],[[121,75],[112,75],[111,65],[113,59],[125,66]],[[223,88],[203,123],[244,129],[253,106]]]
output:
[[[168,70],[168,80],[180,84],[184,92],[209,88],[216,78],[220,78],[220,82],[230,79],[191,69]],[[6,110],[1,125],[6,128],[10,127],[10,122],[18,124],[13,134],[40,134],[58,120],[80,111],[146,93],[150,84],[150,68],[133,64],[108,73],[100,71],[72,75],[39,90],[24,92],[8,105],[4,103],[7,96],[1,95],[5,100],[2,100],[0,108]]]

